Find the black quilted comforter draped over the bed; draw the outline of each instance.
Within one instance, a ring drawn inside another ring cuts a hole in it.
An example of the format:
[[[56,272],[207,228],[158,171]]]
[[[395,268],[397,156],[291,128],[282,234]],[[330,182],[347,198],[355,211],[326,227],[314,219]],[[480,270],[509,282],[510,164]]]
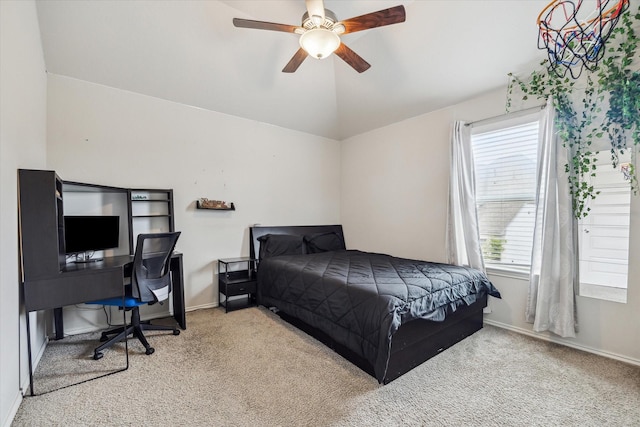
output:
[[[267,258],[260,304],[331,336],[371,363],[382,381],[391,339],[413,319],[444,320],[461,305],[500,293],[480,271],[354,250]]]

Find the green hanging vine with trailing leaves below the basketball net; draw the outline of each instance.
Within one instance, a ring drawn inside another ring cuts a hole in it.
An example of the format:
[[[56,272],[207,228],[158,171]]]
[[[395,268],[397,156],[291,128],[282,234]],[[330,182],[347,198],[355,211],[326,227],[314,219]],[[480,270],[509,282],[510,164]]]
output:
[[[548,59],[540,63],[540,70],[525,79],[509,74],[507,111],[512,107],[516,89],[522,93],[523,101],[529,98],[546,101],[550,97],[553,100],[558,136],[571,153],[565,171],[573,213],[578,219],[589,214],[589,201],[599,194],[590,184],[597,169],[597,152],[591,148],[594,140],[607,136],[614,168],[619,166],[620,155],[640,144],[640,39],[634,31],[634,25],[639,23],[640,5],[635,14],[627,11],[622,15],[608,40],[603,60],[593,71],[585,70],[586,75],[580,81],[558,75],[549,67]],[[618,44],[614,45],[614,41]],[[637,194],[635,151],[631,150],[634,161],[626,176]]]

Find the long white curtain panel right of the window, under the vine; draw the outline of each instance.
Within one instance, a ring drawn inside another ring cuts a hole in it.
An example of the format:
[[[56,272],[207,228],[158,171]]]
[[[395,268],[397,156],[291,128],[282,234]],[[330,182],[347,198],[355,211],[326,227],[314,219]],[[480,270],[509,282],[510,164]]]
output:
[[[526,321],[534,331],[575,337],[577,253],[575,221],[565,164],[568,149],[555,130],[551,100],[541,112],[529,297]]]

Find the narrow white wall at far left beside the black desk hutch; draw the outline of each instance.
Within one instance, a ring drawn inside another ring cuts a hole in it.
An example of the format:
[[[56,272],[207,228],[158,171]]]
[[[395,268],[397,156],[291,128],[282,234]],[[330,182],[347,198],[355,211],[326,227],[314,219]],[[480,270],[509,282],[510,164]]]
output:
[[[26,371],[19,315],[17,169],[46,160],[46,74],[33,1],[0,1],[0,425],[22,400]],[[23,335],[24,336],[24,335]]]

